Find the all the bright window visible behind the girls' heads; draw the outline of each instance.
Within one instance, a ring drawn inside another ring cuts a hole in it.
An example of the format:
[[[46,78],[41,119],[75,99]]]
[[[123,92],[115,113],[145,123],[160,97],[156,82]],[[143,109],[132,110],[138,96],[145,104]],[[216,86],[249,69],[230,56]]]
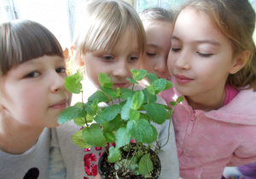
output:
[[[87,0],[0,0],[0,23],[15,19],[38,21],[53,32],[63,49],[73,42],[74,24],[79,7]],[[125,0],[137,12],[152,7],[176,9],[188,0]],[[248,0],[256,9],[256,0]],[[256,39],[256,33],[254,33]]]

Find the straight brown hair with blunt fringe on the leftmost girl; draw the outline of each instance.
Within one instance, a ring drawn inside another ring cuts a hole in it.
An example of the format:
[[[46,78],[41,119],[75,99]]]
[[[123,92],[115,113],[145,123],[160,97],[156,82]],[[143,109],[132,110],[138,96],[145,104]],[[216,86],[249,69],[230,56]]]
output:
[[[0,25],[0,76],[20,63],[43,55],[63,57],[52,32],[32,20],[13,20]]]

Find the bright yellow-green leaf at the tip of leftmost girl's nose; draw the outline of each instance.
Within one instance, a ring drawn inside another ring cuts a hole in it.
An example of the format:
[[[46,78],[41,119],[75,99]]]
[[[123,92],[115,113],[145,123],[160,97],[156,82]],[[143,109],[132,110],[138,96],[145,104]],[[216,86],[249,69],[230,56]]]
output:
[[[64,79],[65,88],[71,93],[79,94],[82,90],[81,80],[82,76],[79,72],[76,72],[72,76]]]

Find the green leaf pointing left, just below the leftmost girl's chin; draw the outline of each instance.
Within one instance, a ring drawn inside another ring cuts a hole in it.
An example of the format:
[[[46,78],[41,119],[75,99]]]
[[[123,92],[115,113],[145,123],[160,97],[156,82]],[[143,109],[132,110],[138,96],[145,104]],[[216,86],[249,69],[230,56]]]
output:
[[[58,124],[66,123],[67,121],[73,118],[84,118],[86,116],[86,112],[80,107],[67,107],[63,110],[58,117]]]

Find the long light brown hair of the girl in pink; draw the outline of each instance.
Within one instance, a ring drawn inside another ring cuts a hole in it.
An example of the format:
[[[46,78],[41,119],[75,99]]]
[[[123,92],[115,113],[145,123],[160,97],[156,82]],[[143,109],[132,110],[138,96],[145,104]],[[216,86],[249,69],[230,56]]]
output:
[[[256,50],[253,42],[255,12],[247,0],[190,0],[179,10],[196,9],[209,15],[219,30],[230,39],[234,55],[250,51],[247,64],[235,74],[230,74],[227,84],[235,88],[256,88]]]

